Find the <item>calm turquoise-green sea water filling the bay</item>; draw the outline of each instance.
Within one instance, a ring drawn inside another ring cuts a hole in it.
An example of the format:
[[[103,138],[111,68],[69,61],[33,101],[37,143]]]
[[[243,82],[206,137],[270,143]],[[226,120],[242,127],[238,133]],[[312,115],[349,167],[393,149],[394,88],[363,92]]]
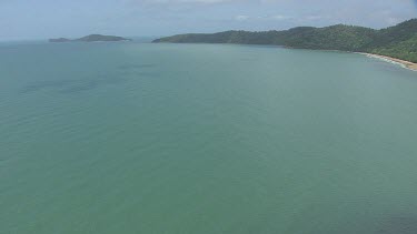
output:
[[[359,54],[0,45],[0,233],[417,233],[417,72]]]

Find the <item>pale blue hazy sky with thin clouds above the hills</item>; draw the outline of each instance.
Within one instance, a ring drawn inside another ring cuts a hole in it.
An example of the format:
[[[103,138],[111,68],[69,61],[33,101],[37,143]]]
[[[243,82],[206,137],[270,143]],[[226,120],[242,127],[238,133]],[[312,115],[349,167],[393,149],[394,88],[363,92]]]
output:
[[[417,0],[0,0],[0,40],[284,30],[337,23],[385,28],[417,18]]]

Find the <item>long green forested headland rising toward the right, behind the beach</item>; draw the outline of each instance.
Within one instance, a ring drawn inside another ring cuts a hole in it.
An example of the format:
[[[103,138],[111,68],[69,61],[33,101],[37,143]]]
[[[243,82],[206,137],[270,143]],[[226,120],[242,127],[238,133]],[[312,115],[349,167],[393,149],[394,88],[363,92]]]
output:
[[[285,31],[178,34],[153,42],[274,44],[299,49],[367,52],[417,62],[417,19],[381,30],[337,24],[325,28],[298,27]]]

